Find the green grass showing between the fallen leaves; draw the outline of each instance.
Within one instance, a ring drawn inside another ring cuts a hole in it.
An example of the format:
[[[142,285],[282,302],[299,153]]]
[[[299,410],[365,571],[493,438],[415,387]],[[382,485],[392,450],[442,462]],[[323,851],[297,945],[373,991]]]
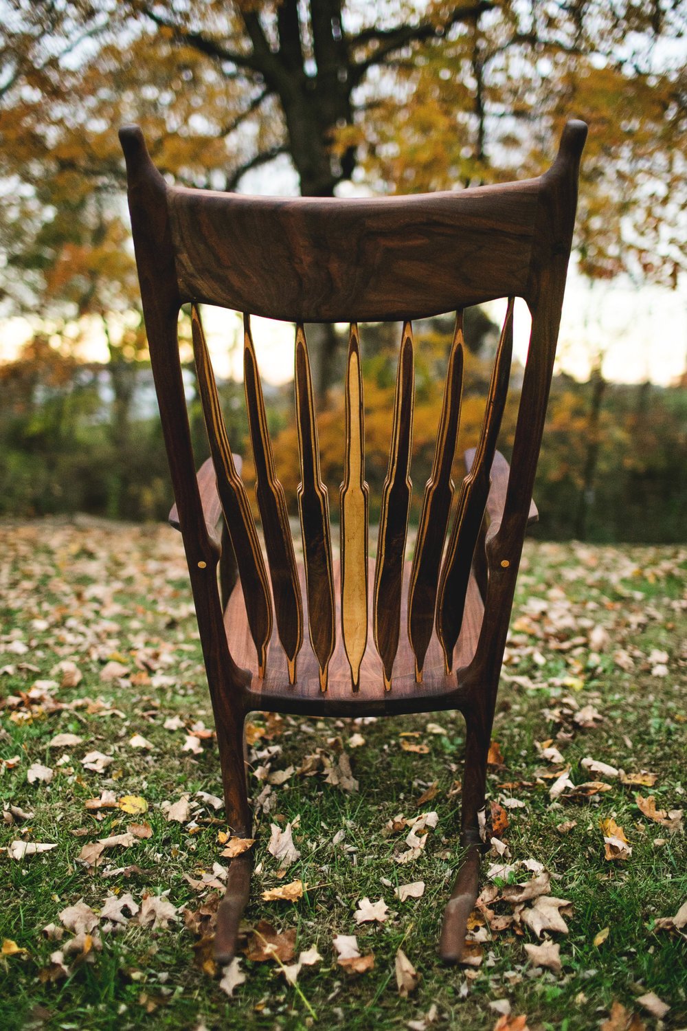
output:
[[[104,706],[84,703],[50,711],[25,694],[25,701],[0,711],[0,758],[20,756],[15,767],[0,773],[3,808],[11,803],[34,812],[26,823],[2,827],[0,844],[22,838],[58,843],[50,853],[22,861],[0,854],[0,938],[15,941],[29,954],[0,960],[3,1031],[203,1025],[341,1025],[381,1031],[420,1019],[433,1003],[433,1028],[479,1031],[493,1028],[499,1013],[489,1003],[496,999],[508,999],[514,1015],[526,1013],[531,1029],[597,1027],[614,1000],[651,1027],[655,1021],[636,1002],[648,991],[671,1005],[666,1026],[687,1024],[685,944],[676,935],[653,930],[656,919],[674,916],[687,897],[684,835],[648,821],[634,801],[639,791],[645,797],[654,794],[659,808],[684,805],[686,677],[678,643],[685,639],[684,551],[536,542],[525,550],[493,732],[506,766],[490,768],[489,796],[512,795],[525,803],[509,810],[504,837],[512,857],[544,864],[555,878],[551,891],[573,903],[570,933],[552,935],[560,943],[559,974],[533,975],[523,944],[536,938],[524,927],[522,933],[494,933],[477,969],[447,969],[437,961],[441,914],[459,857],[459,796],[447,797],[462,768],[465,735],[457,713],[362,725],[284,718],[273,737],[257,742],[257,750],[280,746],[272,771],[289,765],[298,770],[317,749],[335,755],[343,745],[359,781],[357,792],[346,793],[324,784],[321,772],[297,772],[273,788],[272,809],[257,821],[259,868],[247,916],[251,922],[266,919],[278,928],[297,928],[299,951],[317,944],[322,962],[304,968],[299,978],[306,1006],[276,965],[245,960],[246,982],[228,998],[218,978],[195,965],[195,939],[182,922],[157,931],[130,924],[121,933],[103,934],[94,963],[70,964],[68,978],[41,982],[50,953],[70,937],[66,934],[62,943],[48,941],[41,929],[58,923],[61,910],[80,898],[98,910],[109,891],[131,892],[140,900],[144,891],[169,890],[174,905],[196,909],[205,896],[185,875],[198,877],[213,862],[228,862],[219,859],[216,840],[226,825],[216,822],[221,810],[203,810],[201,816],[214,822],[199,821],[190,830],[167,822],[162,809],[164,801],[175,801],[183,791],[220,792],[212,742],[206,741],[196,756],[181,751],[183,731],[163,728],[166,718],[177,714],[188,725],[198,720],[212,725],[178,536],[165,528],[73,527],[58,521],[6,526],[5,531],[2,696],[21,699],[20,692],[36,680],[59,680],[60,674],[51,672],[56,664],[72,659],[83,678],[76,688],[53,690],[53,698],[59,703],[100,699]],[[547,603],[546,611],[537,601]],[[594,657],[587,638],[599,624],[609,636]],[[26,653],[11,651],[16,639],[28,646]],[[629,656],[630,669],[616,662],[619,650]],[[665,676],[652,673],[654,650],[668,655]],[[112,656],[149,679],[140,675],[124,687],[103,683],[100,671]],[[604,720],[589,729],[576,728],[569,718],[556,723],[552,717],[565,708],[568,697],[579,706],[593,704]],[[266,726],[259,716],[253,723]],[[445,733],[427,732],[428,723],[439,724]],[[408,731],[419,733],[412,740],[425,743],[427,754],[401,749],[400,735]],[[558,731],[565,736],[556,738]],[[82,744],[48,749],[54,735],[66,732],[80,735]],[[365,744],[350,749],[347,741],[354,732],[363,734]],[[152,743],[151,753],[130,746],[135,733]],[[535,743],[547,738],[555,739],[571,764],[575,784],[592,778],[580,766],[591,756],[627,772],[650,770],[657,774],[656,785],[632,788],[609,780],[612,789],[590,801],[552,805],[552,781],[540,775],[547,763]],[[114,757],[102,774],[84,771],[80,764],[93,749]],[[70,759],[60,766],[63,752]],[[35,762],[54,768],[49,785],[27,783],[27,769]],[[253,765],[260,762],[266,760],[253,757]],[[416,799],[434,780],[435,799],[418,809]],[[500,788],[505,781],[517,787]],[[254,796],[262,787],[251,777]],[[106,809],[98,821],[84,801],[104,789],[117,797],[142,795],[148,811],[130,818]],[[424,852],[414,863],[399,865],[400,838],[382,833],[386,822],[399,812],[412,817],[433,808],[439,823]],[[609,817],[631,844],[625,862],[604,858],[599,821]],[[78,862],[84,842],[122,833],[141,820],[151,826],[148,839],[126,851],[109,851],[95,873]],[[570,833],[556,830],[571,820],[577,826]],[[267,852],[269,825],[283,827],[288,821],[300,821],[294,836],[302,855],[285,880],[300,877],[310,887],[295,904],[264,902],[262,892],[283,883]],[[73,833],[83,829],[85,834]],[[343,839],[334,844],[342,830]],[[656,844],[656,839],[664,843]],[[484,883],[489,862],[483,867]],[[101,872],[130,864],[144,872],[126,877]],[[527,876],[526,870],[517,874]],[[425,883],[424,895],[400,903],[393,888],[413,880]],[[353,914],[366,895],[386,901],[390,912],[384,925],[356,926]],[[501,903],[499,911],[511,910]],[[606,927],[607,940],[595,946],[594,937]],[[356,934],[360,952],[374,952],[374,969],[348,977],[336,963],[336,934]],[[421,974],[409,999],[400,998],[396,987],[393,963],[401,945]]]

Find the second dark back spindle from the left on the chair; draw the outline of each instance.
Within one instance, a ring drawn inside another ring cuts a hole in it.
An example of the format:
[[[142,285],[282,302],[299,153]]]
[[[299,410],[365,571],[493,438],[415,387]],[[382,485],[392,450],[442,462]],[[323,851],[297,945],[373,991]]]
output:
[[[265,399],[250,333],[250,317],[247,314],[243,317],[243,379],[255,464],[255,498],[272,577],[277,633],[286,654],[288,680],[294,684],[296,659],[303,643],[303,601],[296,571],[286,499],[274,466]]]

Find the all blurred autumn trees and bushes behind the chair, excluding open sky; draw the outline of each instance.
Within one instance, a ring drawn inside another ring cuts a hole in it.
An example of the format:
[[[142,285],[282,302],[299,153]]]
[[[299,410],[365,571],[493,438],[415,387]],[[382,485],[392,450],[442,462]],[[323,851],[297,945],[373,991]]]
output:
[[[0,370],[5,510],[165,514],[160,434],[142,401],[150,383],[123,202],[123,123],[142,126],[170,181],[348,196],[539,174],[563,122],[581,117],[590,137],[580,270],[668,287],[684,274],[687,10],[675,0],[0,6],[0,318],[28,317],[35,330],[22,361]],[[106,343],[106,369],[75,360],[76,343],[88,352],[95,336]],[[431,458],[448,342],[441,325],[425,337],[420,466],[425,451]],[[323,447],[333,427],[334,481],[340,397],[329,388],[339,337],[313,328],[309,338],[328,403]],[[488,360],[480,340],[476,324],[467,429]],[[379,333],[366,347],[376,384],[367,399],[371,486],[377,465],[383,474],[397,346]],[[222,389],[242,440],[241,391]],[[278,392],[275,401],[285,472],[293,430],[288,404]],[[586,386],[557,380],[540,475],[550,503],[538,494],[545,532],[679,534],[668,513],[684,503],[684,488],[671,463],[681,445],[684,455],[684,417],[679,387],[607,386],[600,372]],[[420,472],[415,483],[418,493]],[[654,494],[664,519],[652,530],[643,512]],[[614,523],[618,503],[626,517]]]

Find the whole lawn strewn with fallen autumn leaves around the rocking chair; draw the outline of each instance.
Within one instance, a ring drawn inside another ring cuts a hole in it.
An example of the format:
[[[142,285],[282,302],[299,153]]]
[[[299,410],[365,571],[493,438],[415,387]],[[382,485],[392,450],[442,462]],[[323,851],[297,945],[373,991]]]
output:
[[[3,530],[3,1031],[687,1025],[685,550],[527,542],[468,966],[436,954],[459,714],[254,713],[257,865],[226,974],[207,946],[232,842],[180,538]],[[284,865],[268,846],[289,825]],[[339,935],[360,960],[339,962]]]

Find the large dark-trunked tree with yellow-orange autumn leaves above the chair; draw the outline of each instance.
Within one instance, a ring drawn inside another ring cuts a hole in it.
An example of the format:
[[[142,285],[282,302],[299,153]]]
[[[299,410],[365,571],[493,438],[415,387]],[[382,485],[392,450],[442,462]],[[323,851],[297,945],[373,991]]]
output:
[[[233,190],[285,155],[302,193],[331,196],[536,174],[579,115],[582,269],[675,285],[685,268],[675,0],[2,6],[5,310],[135,303],[114,133],[131,121],[177,181]]]

